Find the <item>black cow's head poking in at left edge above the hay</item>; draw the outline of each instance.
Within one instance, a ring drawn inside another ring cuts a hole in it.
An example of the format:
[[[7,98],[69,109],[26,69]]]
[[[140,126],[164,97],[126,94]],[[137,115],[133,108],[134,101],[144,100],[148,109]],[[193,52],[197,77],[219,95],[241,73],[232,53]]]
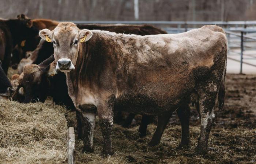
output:
[[[2,69],[2,62],[0,60],[0,99],[11,98],[13,92],[12,85]]]

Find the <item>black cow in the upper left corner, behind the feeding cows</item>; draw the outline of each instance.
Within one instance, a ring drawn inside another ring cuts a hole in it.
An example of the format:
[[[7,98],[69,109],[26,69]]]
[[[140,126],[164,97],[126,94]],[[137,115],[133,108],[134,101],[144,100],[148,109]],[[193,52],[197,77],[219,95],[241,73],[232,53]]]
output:
[[[15,45],[22,40],[38,35],[39,30],[33,26],[30,19],[0,20],[0,60],[3,62],[3,70],[7,74],[11,52]]]

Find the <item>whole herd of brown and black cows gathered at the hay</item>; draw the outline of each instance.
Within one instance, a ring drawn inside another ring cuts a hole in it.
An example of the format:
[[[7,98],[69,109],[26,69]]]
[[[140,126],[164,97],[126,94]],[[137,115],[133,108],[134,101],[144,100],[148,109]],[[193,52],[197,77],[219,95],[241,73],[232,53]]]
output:
[[[76,112],[78,138],[93,152],[95,116],[103,136],[103,155],[113,155],[111,131],[120,113],[142,114],[140,137],[158,116],[148,143],[159,144],[177,111],[189,146],[189,114],[200,116],[196,152],[207,152],[214,110],[225,95],[227,39],[218,26],[203,26],[181,34],[166,34],[149,25],[74,24],[48,19],[0,19],[0,99],[44,102]],[[9,67],[18,69],[7,78]]]

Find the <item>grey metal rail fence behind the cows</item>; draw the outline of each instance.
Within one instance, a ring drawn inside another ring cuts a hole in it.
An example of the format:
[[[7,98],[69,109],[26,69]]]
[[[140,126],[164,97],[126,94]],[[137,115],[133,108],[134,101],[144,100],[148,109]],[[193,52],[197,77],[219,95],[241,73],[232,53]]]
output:
[[[256,60],[256,21],[230,22],[191,22],[191,21],[71,21],[76,24],[152,24],[169,34],[186,32],[207,24],[216,24],[224,28],[229,42],[227,58],[240,62],[240,73],[243,64],[256,67],[256,64],[247,62]],[[237,58],[238,57],[238,58]]]

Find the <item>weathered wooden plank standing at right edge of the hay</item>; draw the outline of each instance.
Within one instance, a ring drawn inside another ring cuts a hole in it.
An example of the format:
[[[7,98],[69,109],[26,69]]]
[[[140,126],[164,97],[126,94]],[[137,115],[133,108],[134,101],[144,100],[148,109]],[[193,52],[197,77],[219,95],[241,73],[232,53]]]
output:
[[[68,164],[75,164],[75,130],[73,127],[68,128]]]

